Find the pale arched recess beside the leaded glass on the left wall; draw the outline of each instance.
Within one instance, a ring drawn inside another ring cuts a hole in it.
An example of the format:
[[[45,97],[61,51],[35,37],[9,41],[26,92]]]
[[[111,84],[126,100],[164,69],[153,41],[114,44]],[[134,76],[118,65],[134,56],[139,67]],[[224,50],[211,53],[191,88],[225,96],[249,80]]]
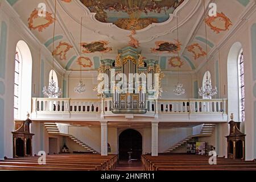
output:
[[[19,111],[18,118],[26,119],[27,113],[31,111],[32,97],[32,55],[27,43],[19,40],[16,44],[16,51],[19,53],[20,64],[20,81],[19,81]]]

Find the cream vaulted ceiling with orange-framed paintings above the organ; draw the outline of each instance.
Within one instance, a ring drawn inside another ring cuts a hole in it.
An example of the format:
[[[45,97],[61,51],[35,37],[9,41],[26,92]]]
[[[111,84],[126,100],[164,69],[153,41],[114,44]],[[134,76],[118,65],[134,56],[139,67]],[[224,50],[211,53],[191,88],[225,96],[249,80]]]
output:
[[[7,0],[39,41],[52,51],[54,0]],[[208,51],[236,27],[249,0],[205,0],[217,5],[217,16],[204,19],[203,0],[148,1],[131,31],[127,0],[57,0],[55,59],[66,70],[94,70],[101,59],[115,59],[118,49],[138,44],[145,59],[159,60],[166,71],[193,71],[205,63],[205,23]],[[46,16],[38,16],[40,3]],[[80,21],[82,17],[82,59]],[[176,18],[177,17],[177,18]],[[177,42],[177,20],[179,42]],[[132,34],[134,33],[134,34]],[[177,52],[181,60],[177,60]]]

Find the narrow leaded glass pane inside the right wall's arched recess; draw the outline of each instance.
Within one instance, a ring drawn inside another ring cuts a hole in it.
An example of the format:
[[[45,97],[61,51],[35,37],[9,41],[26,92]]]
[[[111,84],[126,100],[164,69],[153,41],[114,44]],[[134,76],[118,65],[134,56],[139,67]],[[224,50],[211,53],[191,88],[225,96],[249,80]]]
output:
[[[245,121],[245,72],[243,70],[243,61],[243,51],[241,50],[237,64],[241,121]]]

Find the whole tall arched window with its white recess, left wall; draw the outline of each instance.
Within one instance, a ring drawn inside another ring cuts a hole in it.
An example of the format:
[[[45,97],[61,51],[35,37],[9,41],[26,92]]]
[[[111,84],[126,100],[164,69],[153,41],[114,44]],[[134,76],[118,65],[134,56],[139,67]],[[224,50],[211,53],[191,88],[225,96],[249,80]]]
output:
[[[14,68],[14,119],[26,119],[31,111],[32,56],[26,42],[16,45]]]

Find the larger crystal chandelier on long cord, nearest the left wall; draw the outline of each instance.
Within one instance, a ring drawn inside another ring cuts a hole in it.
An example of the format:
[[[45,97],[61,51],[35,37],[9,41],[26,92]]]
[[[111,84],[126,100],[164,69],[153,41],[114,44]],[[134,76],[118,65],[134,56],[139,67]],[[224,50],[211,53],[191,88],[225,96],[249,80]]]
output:
[[[55,25],[56,25],[56,0],[55,0],[55,12],[54,12],[54,25],[53,25],[53,38],[52,38],[52,77],[49,81],[48,87],[44,86],[43,94],[49,98],[56,98],[61,96],[62,92],[59,87],[56,86],[56,82],[53,80],[53,71],[54,71],[54,37],[55,37]]]

